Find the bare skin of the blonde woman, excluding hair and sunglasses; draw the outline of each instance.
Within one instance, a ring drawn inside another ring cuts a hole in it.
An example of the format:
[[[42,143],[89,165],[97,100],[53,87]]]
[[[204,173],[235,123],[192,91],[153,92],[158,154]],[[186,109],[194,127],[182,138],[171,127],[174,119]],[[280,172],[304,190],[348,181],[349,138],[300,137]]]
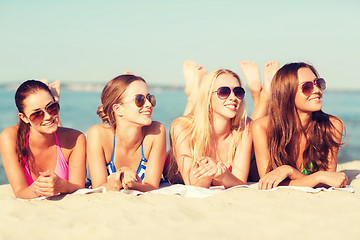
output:
[[[197,159],[199,165],[193,165],[190,157],[189,130],[182,121],[173,123],[173,136],[177,136],[175,156],[179,171],[185,184],[208,188],[211,184],[231,187],[246,183],[249,172],[251,154],[251,134],[244,132],[233,160],[233,172],[228,170],[230,159],[228,159],[229,146],[232,141],[231,119],[238,114],[241,100],[233,91],[226,99],[220,99],[215,92],[219,87],[233,89],[240,86],[239,81],[230,74],[221,74],[214,81],[210,96],[210,109],[212,112],[212,137],[211,145],[214,151],[210,156]],[[250,121],[248,122],[250,124]]]

